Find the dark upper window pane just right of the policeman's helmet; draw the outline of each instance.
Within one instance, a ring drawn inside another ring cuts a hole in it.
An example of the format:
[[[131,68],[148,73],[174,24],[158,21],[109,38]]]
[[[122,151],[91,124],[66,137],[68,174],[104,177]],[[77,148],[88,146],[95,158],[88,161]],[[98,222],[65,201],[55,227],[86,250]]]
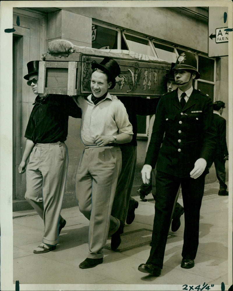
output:
[[[206,81],[214,81],[214,60],[206,57],[198,56],[198,72],[200,79]]]

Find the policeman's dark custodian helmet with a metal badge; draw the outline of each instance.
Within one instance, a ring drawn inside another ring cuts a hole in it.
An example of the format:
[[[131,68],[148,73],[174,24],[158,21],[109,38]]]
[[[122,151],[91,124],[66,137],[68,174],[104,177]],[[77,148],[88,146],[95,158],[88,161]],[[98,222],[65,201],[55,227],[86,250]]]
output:
[[[197,71],[197,60],[195,55],[187,50],[186,52],[182,52],[176,60],[175,66],[172,68],[173,70],[192,70],[196,72],[196,77],[194,79],[199,79],[200,74]]]

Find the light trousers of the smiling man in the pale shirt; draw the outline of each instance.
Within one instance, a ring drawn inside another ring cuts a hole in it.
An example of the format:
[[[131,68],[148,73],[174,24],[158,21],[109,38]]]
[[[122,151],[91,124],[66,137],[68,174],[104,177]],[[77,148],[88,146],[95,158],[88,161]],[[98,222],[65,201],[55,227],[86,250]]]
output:
[[[121,150],[117,146],[85,148],[80,157],[75,191],[80,211],[90,220],[90,259],[103,257],[107,237],[120,226],[111,216],[120,171]]]

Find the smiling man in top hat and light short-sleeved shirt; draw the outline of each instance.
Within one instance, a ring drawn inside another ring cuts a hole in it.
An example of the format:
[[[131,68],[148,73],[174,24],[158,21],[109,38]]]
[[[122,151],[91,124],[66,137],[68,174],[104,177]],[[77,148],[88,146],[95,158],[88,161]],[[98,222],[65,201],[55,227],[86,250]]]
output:
[[[130,142],[133,131],[126,109],[108,89],[115,86],[120,67],[114,59],[92,63],[91,92],[74,97],[82,109],[81,139],[85,149],[76,173],[80,211],[90,220],[89,254],[79,265],[92,268],[103,262],[103,247],[122,222],[111,216],[117,179],[121,171],[120,143]]]

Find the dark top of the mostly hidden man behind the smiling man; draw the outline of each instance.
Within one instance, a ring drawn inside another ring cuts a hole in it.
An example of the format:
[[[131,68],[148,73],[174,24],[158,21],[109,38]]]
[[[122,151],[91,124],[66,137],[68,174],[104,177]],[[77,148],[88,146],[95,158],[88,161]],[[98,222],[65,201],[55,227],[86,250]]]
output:
[[[133,126],[133,138],[130,143],[124,143],[124,146],[137,146],[137,115],[153,115],[156,113],[156,108],[159,98],[142,98],[137,96],[117,96],[119,100],[124,104],[127,114],[129,116],[129,122]]]

